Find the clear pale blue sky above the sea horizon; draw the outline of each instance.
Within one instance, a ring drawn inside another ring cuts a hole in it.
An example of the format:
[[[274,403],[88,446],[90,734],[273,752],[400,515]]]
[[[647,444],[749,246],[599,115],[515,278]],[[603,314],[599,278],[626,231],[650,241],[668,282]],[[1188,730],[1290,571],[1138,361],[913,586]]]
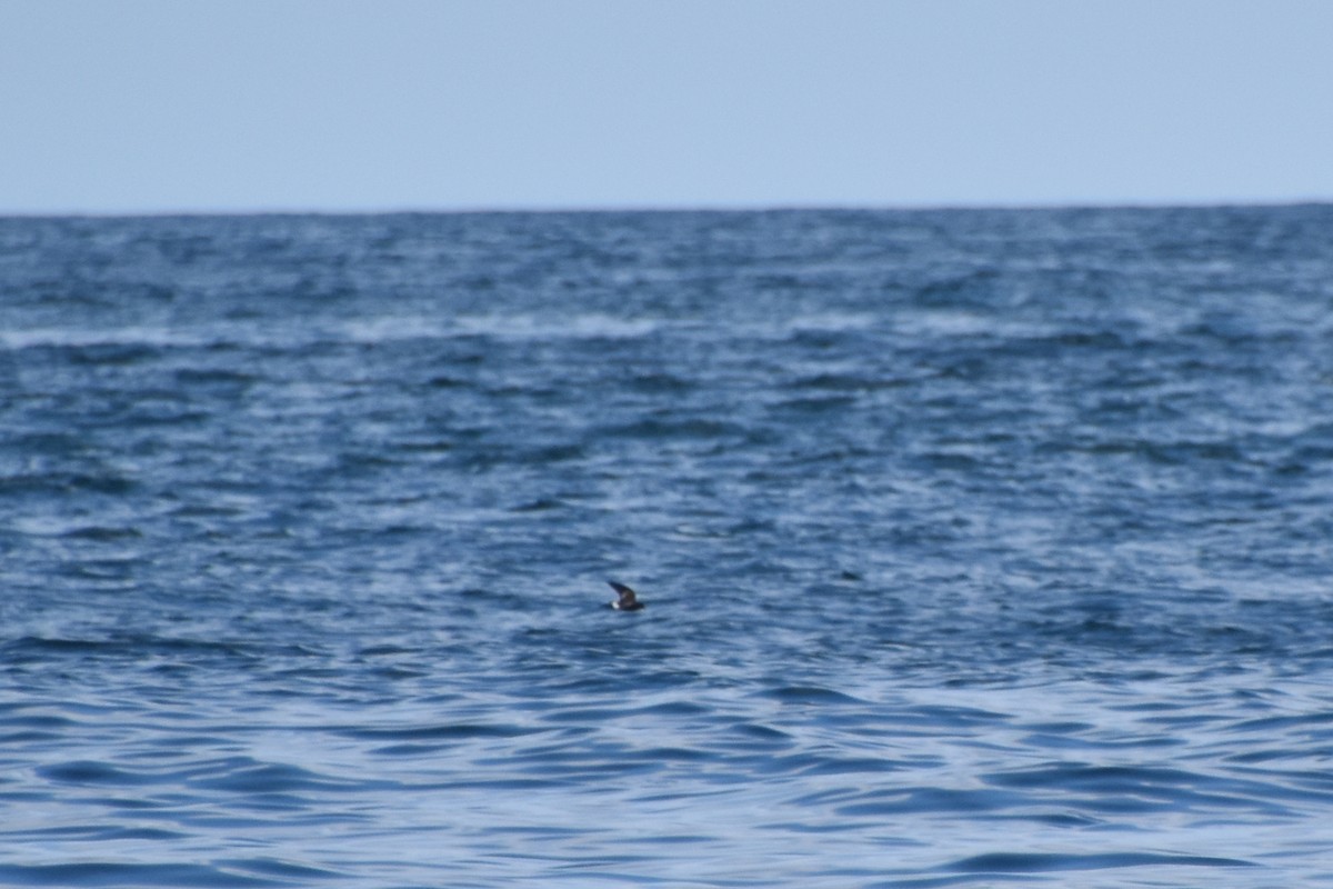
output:
[[[1333,200],[1333,0],[0,0],[0,213]]]

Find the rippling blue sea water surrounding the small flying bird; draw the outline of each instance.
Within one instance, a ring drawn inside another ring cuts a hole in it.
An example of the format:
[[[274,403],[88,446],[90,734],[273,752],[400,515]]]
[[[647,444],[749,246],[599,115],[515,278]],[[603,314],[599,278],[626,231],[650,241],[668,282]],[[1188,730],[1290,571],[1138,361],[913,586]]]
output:
[[[1330,565],[1333,207],[0,220],[3,885],[1333,884]]]

